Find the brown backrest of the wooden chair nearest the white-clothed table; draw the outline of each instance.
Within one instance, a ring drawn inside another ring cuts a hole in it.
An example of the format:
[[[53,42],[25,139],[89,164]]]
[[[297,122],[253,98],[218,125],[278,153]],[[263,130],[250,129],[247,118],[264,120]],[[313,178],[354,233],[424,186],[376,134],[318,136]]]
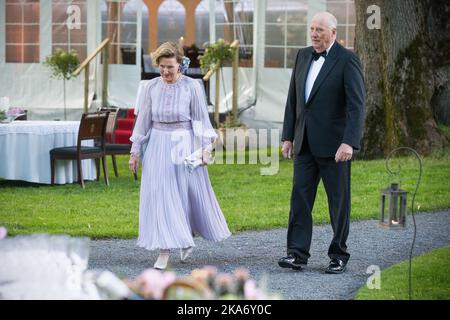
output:
[[[109,111],[83,113],[78,130],[78,146],[82,140],[100,140],[105,143],[106,124],[108,122]]]

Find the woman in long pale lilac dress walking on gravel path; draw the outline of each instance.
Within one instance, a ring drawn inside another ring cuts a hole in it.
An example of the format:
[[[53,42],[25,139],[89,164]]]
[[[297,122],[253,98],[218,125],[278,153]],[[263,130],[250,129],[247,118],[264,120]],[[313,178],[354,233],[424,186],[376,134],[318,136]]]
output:
[[[194,234],[211,241],[231,235],[206,169],[217,135],[201,84],[182,74],[184,59],[182,48],[169,42],[152,53],[161,77],[141,81],[130,138],[130,170],[142,162],[137,245],[160,250],[156,269],[166,268],[170,249],[180,248],[184,261]],[[191,171],[184,160],[195,151],[202,166]]]

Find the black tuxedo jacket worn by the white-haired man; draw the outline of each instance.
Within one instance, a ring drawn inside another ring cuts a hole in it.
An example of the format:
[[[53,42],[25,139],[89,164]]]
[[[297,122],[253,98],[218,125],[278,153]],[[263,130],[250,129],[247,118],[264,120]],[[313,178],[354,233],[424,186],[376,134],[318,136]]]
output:
[[[358,150],[364,124],[365,89],[358,57],[335,42],[305,102],[312,47],[297,53],[284,113],[282,141],[299,154],[307,131],[311,153],[334,157],[341,143]]]

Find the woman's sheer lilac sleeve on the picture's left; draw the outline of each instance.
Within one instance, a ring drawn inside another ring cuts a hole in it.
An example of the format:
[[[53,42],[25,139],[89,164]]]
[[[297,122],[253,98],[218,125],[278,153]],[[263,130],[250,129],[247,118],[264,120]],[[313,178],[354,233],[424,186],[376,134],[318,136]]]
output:
[[[139,83],[138,93],[136,97],[135,110],[136,124],[133,129],[133,134],[130,137],[131,145],[130,153],[133,155],[141,154],[142,145],[148,142],[152,129],[152,101],[150,96],[151,81],[144,80]]]

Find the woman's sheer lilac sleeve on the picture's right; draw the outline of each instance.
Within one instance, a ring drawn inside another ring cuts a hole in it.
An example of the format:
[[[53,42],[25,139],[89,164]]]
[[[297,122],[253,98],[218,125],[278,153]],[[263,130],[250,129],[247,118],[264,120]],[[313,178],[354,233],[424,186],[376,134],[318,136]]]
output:
[[[196,143],[203,149],[211,151],[217,138],[216,131],[211,125],[206,103],[206,94],[203,86],[197,81],[192,81],[191,120]]]

